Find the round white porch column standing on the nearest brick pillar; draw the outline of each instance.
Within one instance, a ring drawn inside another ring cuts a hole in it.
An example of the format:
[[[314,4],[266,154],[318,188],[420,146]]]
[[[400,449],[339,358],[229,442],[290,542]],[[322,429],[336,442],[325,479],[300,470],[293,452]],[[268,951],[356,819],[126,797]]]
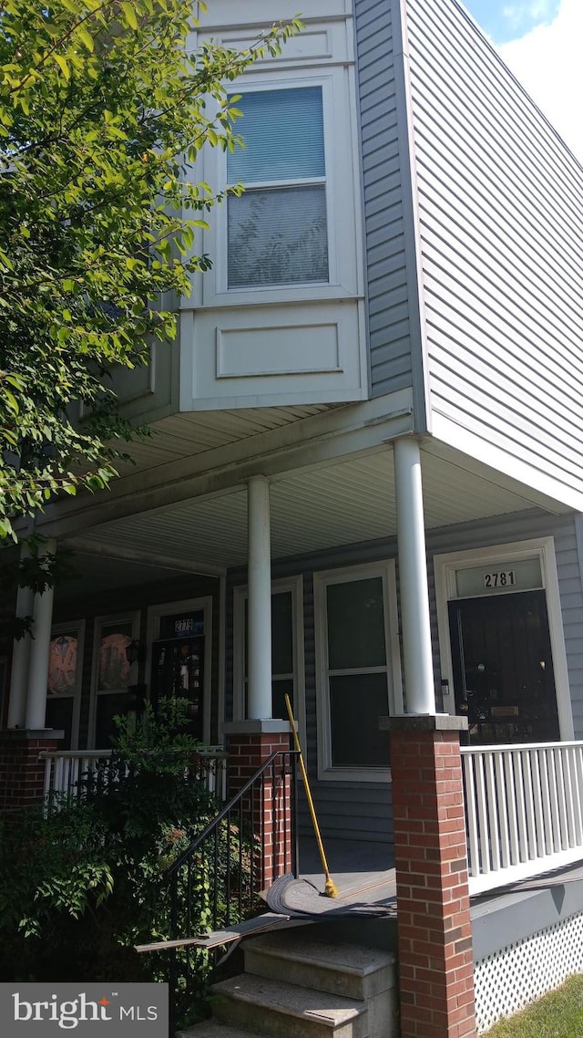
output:
[[[407,712],[435,714],[421,454],[412,436],[395,440],[394,469]]]

